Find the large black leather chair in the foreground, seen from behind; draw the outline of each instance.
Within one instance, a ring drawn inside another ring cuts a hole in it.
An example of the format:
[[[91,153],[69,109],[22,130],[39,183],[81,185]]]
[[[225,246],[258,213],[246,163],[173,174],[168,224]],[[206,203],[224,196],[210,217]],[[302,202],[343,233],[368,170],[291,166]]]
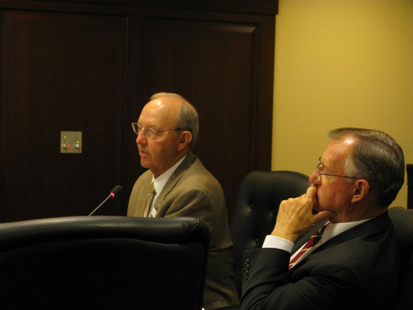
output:
[[[195,218],[0,224],[0,308],[201,309],[209,238]]]

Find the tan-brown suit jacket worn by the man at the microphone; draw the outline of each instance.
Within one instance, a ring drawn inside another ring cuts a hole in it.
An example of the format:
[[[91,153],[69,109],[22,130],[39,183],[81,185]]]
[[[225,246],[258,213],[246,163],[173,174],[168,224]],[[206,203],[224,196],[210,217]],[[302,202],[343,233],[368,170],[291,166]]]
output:
[[[127,215],[143,217],[152,173],[136,181]],[[178,166],[158,200],[157,217],[191,216],[207,222],[211,231],[203,307],[212,309],[238,304],[234,277],[233,243],[222,188],[217,179],[192,153]]]

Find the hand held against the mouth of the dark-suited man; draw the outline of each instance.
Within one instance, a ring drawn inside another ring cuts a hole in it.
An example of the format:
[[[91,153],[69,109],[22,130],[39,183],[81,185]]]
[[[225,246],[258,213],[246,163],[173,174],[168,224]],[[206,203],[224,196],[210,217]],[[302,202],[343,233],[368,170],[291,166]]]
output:
[[[313,184],[304,195],[282,200],[271,235],[295,242],[317,223],[333,215],[333,212],[325,210],[313,215],[316,194],[317,185]]]

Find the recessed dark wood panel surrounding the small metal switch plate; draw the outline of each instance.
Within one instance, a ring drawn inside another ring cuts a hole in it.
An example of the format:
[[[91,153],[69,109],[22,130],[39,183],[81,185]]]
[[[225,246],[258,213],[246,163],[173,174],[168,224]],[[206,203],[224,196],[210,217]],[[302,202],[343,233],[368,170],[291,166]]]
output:
[[[125,18],[2,21],[1,220],[87,215],[121,180]],[[81,154],[60,153],[60,131],[83,132]]]

